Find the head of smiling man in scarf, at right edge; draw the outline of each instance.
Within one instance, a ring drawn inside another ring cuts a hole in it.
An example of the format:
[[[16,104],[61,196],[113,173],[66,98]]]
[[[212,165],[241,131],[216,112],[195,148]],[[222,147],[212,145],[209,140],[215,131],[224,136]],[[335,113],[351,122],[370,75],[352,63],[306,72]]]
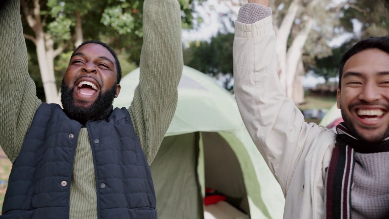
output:
[[[356,44],[343,59],[337,94],[345,126],[358,139],[389,136],[389,37]]]

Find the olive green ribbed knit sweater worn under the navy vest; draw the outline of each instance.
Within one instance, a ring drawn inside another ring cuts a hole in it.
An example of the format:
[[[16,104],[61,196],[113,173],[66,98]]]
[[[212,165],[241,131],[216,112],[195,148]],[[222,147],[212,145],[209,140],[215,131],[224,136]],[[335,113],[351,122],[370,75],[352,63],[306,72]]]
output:
[[[0,9],[0,145],[13,162],[41,104],[28,74],[20,0]],[[149,164],[177,106],[182,74],[181,15],[177,0],[145,0],[140,83],[128,109]],[[58,182],[61,183],[61,182]],[[70,186],[70,218],[96,219],[96,181],[88,132],[82,128]]]

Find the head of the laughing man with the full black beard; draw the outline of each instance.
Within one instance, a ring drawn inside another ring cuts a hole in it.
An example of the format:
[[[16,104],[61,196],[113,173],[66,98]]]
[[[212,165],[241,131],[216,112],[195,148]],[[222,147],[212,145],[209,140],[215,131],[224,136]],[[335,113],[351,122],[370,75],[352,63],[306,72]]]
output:
[[[81,124],[100,117],[119,95],[120,79],[119,60],[112,49],[98,41],[82,43],[61,83],[63,110]]]

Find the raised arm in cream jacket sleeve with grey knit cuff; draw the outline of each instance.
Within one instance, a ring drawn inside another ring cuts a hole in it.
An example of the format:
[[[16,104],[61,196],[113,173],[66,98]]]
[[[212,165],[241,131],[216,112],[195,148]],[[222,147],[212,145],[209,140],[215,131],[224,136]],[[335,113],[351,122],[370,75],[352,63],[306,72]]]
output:
[[[252,140],[286,195],[303,150],[324,130],[307,124],[286,98],[277,75],[275,40],[271,9],[242,6],[233,45],[235,96]]]

